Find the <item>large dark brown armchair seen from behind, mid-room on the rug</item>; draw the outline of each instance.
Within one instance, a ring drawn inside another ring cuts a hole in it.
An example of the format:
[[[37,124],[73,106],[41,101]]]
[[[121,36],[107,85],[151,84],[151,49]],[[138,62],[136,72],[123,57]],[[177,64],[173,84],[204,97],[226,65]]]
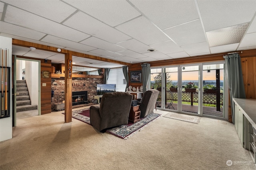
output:
[[[100,106],[90,107],[91,125],[98,131],[126,125],[132,104],[132,95],[127,92],[105,93]]]

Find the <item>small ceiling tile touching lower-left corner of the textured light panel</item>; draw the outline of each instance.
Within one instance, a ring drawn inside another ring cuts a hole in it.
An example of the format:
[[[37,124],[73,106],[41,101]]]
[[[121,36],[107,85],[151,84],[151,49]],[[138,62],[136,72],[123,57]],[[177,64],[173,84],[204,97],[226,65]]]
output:
[[[188,53],[188,55],[210,53],[207,42],[184,45],[181,48],[184,49],[184,51]]]

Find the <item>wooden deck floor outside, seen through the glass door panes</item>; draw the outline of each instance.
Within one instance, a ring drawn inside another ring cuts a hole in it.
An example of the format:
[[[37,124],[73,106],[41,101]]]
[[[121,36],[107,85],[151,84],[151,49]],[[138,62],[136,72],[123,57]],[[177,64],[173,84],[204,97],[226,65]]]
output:
[[[161,105],[161,102],[157,102],[159,104],[159,106]],[[157,104],[157,107],[159,107]],[[166,104],[165,107],[168,107],[168,104]],[[170,108],[166,108],[166,109],[170,109],[171,110],[177,110],[177,104],[173,103],[172,106],[174,107],[174,109],[170,106]],[[182,104],[182,111],[186,111],[186,112],[190,112],[190,113],[198,113],[198,106],[191,106],[188,104]],[[223,108],[220,109],[220,111],[216,111],[216,107],[207,107],[207,106],[203,106],[203,115],[213,115],[213,116],[217,116],[217,117],[223,117]]]

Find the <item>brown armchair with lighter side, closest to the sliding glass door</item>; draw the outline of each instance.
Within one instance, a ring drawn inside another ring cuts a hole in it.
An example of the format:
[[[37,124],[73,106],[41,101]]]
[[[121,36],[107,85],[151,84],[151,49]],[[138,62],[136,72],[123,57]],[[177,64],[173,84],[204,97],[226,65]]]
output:
[[[138,102],[140,105],[140,117],[143,118],[150,113],[153,113],[156,106],[156,100],[158,97],[159,91],[156,89],[150,89],[144,92],[142,99]]]

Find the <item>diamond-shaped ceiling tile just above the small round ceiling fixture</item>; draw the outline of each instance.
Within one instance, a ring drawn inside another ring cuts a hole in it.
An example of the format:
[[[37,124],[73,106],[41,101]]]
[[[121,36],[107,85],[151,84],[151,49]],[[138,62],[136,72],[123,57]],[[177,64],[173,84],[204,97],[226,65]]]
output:
[[[118,25],[116,29],[146,45],[170,40],[162,31],[143,16]]]

